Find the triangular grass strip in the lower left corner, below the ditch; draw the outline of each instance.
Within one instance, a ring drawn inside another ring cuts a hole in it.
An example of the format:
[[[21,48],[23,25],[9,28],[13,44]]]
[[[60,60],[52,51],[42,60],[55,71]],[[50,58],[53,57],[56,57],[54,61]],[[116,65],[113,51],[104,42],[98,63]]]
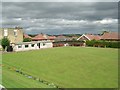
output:
[[[3,68],[2,83],[6,88],[53,88],[39,81],[27,78],[15,71],[8,70],[7,68]]]

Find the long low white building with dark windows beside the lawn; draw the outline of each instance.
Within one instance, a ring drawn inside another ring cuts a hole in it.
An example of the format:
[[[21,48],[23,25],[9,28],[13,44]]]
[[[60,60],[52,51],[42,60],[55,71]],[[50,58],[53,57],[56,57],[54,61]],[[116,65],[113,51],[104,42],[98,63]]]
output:
[[[26,51],[26,50],[36,50],[42,48],[52,48],[53,43],[51,41],[32,41],[32,42],[22,42],[12,45],[13,51]]]

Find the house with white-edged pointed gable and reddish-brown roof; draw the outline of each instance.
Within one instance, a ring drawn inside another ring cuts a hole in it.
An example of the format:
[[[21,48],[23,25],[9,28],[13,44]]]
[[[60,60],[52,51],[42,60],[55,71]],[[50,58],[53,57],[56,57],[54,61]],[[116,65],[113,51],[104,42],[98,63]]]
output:
[[[77,40],[80,41],[86,41],[86,40],[100,40],[101,36],[99,35],[93,35],[93,34],[83,34],[82,36],[80,36]]]

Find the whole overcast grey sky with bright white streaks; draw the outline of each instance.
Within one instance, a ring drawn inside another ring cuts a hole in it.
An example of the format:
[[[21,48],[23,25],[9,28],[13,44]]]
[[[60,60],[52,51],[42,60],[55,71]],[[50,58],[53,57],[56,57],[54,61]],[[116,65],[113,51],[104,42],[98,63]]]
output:
[[[15,26],[27,34],[117,31],[118,2],[2,2],[2,27]]]

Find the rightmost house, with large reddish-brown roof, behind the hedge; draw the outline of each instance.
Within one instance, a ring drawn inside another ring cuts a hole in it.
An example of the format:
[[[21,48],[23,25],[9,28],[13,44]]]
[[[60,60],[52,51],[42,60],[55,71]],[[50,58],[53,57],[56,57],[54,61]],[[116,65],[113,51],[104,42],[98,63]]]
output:
[[[120,40],[120,33],[118,33],[118,32],[106,32],[101,36],[101,40],[119,41]]]

